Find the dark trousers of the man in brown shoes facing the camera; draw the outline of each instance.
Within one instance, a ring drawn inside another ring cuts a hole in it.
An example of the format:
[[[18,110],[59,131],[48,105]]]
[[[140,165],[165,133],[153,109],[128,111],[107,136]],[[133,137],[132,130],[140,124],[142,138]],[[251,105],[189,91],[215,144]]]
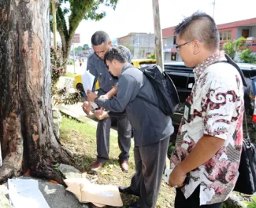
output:
[[[106,162],[109,159],[109,134],[111,121],[117,120],[118,145],[121,150],[119,159],[128,160],[129,150],[131,148],[132,126],[128,122],[127,116],[109,115],[109,118],[98,121],[97,126],[97,161]]]

